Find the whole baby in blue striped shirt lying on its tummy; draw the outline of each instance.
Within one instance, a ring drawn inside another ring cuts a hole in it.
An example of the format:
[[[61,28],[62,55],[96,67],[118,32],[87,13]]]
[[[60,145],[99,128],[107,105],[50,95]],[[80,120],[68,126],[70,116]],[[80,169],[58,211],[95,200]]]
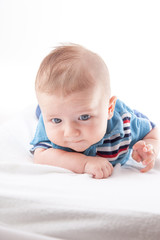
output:
[[[41,109],[32,140],[34,162],[109,177],[132,158],[147,172],[160,146],[155,125],[111,97],[106,64],[79,45],[59,46],[42,61],[36,77]]]

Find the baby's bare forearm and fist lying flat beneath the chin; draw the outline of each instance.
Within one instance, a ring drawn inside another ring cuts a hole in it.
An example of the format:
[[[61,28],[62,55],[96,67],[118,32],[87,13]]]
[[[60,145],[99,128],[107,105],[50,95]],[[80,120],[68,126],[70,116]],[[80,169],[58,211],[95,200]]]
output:
[[[54,148],[37,148],[34,152],[34,162],[66,168],[75,173],[89,173],[94,178],[107,178],[113,172],[113,166],[106,158]]]

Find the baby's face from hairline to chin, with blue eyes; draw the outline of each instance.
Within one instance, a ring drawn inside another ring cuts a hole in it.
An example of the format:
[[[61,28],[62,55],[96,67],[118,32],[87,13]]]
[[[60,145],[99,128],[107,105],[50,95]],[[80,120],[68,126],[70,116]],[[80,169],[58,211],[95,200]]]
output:
[[[93,87],[65,97],[39,94],[38,100],[51,142],[82,152],[103,138],[108,101],[102,88]]]

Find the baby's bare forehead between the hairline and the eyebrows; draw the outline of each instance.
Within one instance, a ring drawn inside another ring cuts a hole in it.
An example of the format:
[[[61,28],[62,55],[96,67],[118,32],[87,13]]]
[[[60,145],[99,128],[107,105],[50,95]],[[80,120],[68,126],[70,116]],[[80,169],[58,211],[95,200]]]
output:
[[[72,108],[73,111],[95,110],[98,108],[101,101],[105,101],[101,88],[96,87],[86,89],[80,92],[72,93],[67,96],[62,94],[38,94],[38,101],[41,110],[44,113],[62,112],[67,108]]]

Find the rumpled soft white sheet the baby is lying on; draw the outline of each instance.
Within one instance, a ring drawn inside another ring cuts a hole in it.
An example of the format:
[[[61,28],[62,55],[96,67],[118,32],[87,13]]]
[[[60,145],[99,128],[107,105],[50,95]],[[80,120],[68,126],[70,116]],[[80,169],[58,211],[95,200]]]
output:
[[[160,157],[148,173],[130,160],[101,180],[35,165],[29,142],[36,123],[30,107],[0,126],[0,225],[8,233],[14,229],[28,237],[27,232],[32,240],[35,234],[64,240],[160,239]]]

